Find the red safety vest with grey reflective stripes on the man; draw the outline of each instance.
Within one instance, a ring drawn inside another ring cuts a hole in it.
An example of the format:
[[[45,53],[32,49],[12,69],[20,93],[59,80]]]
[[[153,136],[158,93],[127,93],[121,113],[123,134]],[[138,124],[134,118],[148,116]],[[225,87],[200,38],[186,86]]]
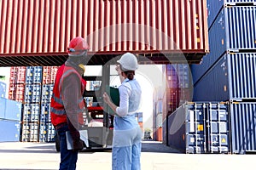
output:
[[[83,111],[84,111],[84,87],[86,82],[83,80],[81,75],[78,71],[76,71],[73,67],[67,66],[67,65],[61,65],[59,70],[57,71],[56,77],[55,77],[55,86],[53,88],[53,94],[50,101],[50,118],[51,123],[54,126],[57,126],[58,124],[61,124],[63,122],[67,122],[67,113],[64,108],[63,100],[61,96],[61,88],[62,88],[62,82],[63,80],[70,76],[71,74],[77,74],[80,78],[81,83],[81,96],[82,98],[79,99],[79,123],[83,124],[84,120],[81,120],[83,117]],[[71,82],[72,83],[72,82]]]

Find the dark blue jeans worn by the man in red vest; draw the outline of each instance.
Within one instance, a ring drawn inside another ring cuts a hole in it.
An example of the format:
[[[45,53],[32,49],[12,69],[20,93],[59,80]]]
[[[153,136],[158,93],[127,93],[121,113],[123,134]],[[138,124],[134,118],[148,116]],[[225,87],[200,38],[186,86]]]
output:
[[[68,130],[67,126],[61,127],[57,130],[60,138],[60,149],[61,149],[61,163],[60,170],[73,170],[76,169],[76,164],[78,160],[78,151],[67,150],[67,137],[66,132]]]

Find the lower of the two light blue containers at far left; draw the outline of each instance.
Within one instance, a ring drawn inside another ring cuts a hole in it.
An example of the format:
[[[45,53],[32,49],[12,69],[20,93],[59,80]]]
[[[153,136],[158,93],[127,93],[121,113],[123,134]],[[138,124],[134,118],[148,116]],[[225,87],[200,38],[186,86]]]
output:
[[[0,119],[0,142],[20,141],[20,122]]]

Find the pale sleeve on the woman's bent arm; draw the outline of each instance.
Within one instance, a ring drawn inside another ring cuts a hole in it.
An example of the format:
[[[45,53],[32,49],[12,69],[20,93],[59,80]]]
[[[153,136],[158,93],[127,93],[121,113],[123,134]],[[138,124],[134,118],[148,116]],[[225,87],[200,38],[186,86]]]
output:
[[[119,116],[126,116],[129,109],[129,96],[131,95],[131,87],[121,85],[119,87],[119,107],[116,108],[116,113]]]

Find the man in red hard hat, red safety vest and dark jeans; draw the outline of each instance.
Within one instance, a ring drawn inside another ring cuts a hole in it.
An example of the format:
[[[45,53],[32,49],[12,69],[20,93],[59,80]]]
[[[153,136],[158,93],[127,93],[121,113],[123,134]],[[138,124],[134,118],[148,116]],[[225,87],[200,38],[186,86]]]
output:
[[[89,46],[82,37],[75,37],[67,48],[68,58],[55,77],[50,103],[51,122],[60,138],[60,169],[76,169],[79,150],[84,143],[79,134],[79,116],[84,112],[84,89],[82,79]],[[67,150],[67,131],[73,139],[73,149]]]

